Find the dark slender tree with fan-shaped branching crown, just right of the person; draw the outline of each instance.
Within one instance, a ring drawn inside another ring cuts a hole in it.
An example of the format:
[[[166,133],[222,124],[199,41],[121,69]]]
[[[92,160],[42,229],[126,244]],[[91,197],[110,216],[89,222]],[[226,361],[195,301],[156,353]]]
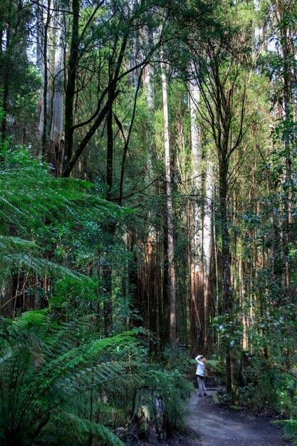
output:
[[[214,140],[219,170],[219,227],[222,237],[223,314],[230,336],[236,330],[235,296],[231,281],[231,192],[232,155],[239,150],[246,132],[244,113],[246,85],[244,61],[246,53],[243,41],[231,37],[226,45],[222,40],[209,41],[204,48],[206,58],[196,64],[196,74],[206,110],[198,110]],[[239,99],[240,98],[240,99]],[[233,341],[232,341],[233,342]],[[238,363],[236,351],[226,344],[227,388],[231,400],[238,401]]]

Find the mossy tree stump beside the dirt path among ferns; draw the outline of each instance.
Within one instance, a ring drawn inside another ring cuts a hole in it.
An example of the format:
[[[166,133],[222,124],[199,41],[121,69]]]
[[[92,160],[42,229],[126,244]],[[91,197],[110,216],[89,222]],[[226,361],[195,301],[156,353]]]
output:
[[[135,395],[134,413],[126,437],[127,445],[145,441],[158,445],[168,435],[168,416],[165,400],[154,390],[142,388]]]

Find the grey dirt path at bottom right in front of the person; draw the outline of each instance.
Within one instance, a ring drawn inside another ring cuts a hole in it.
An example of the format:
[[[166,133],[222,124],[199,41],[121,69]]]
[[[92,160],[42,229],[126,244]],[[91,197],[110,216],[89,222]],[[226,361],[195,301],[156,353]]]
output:
[[[197,446],[291,446],[267,418],[219,408],[211,396],[192,396],[186,424],[198,435]]]

